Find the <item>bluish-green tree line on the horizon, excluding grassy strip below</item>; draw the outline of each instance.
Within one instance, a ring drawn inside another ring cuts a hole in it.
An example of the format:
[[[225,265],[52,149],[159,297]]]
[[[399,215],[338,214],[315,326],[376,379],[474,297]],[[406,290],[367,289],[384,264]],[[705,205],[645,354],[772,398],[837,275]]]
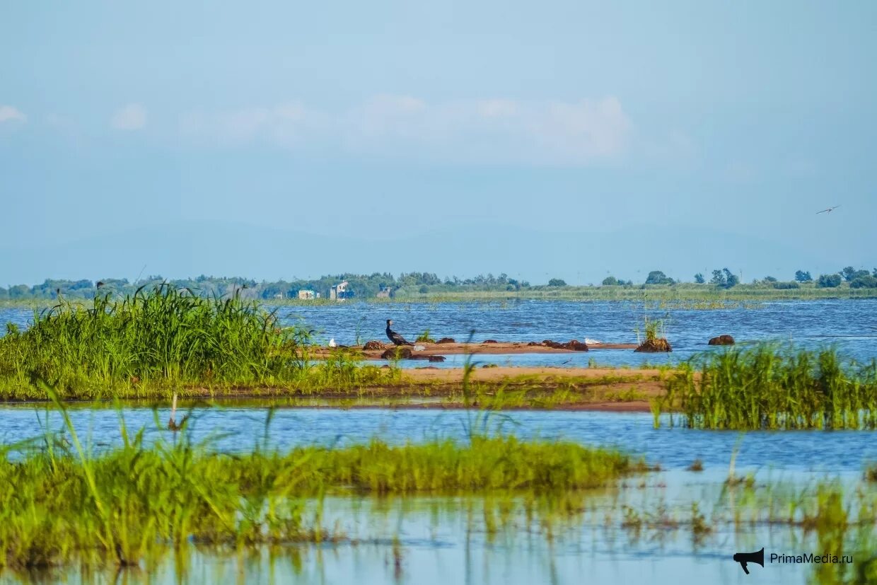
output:
[[[33,286],[16,284],[5,288],[0,287],[0,300],[54,299],[59,294],[70,298],[90,298],[103,290],[126,295],[132,294],[141,287],[149,288],[161,282],[169,282],[171,285],[181,289],[191,289],[196,294],[202,296],[223,297],[237,294],[246,298],[265,300],[296,298],[300,290],[311,290],[315,295],[318,294],[321,297],[328,298],[332,287],[340,282],[347,282],[347,296],[353,298],[371,298],[377,296],[378,292],[381,291],[385,291],[388,296],[396,296],[396,294],[401,292],[425,294],[466,290],[517,291],[540,288],[538,286],[531,286],[529,282],[510,278],[509,275],[504,273],[497,276],[493,274],[477,275],[465,279],[457,276],[439,278],[435,273],[429,272],[402,273],[398,276],[391,275],[388,272],[375,272],[371,275],[344,273],[324,275],[316,279],[293,279],[276,282],[256,282],[253,279],[242,277],[206,275],[192,279],[166,280],[160,275],[150,275],[135,282],[129,282],[125,278],[105,278],[94,282],[89,280],[46,279],[45,282]],[[667,276],[660,270],[652,270],[645,277],[645,285],[674,285],[678,282],[681,281]],[[872,272],[868,272],[864,269],[848,266],[838,270],[837,273],[819,275],[816,279],[808,271],[798,270],[795,272],[794,280],[791,281],[781,282],[774,278],[774,276],[766,276],[761,280],[756,279],[752,281],[752,284],[769,286],[774,289],[797,289],[806,283],[821,289],[831,289],[839,287],[844,282],[851,289],[877,288],[877,268],[874,268]],[[717,289],[731,289],[740,283],[740,279],[730,269],[721,268],[712,271],[712,277],[709,279],[709,282],[707,282],[704,275],[696,274],[695,283],[712,286]],[[551,288],[566,287],[567,282],[561,278],[552,278],[548,281],[547,286]],[[602,280],[602,286],[632,287],[634,283],[631,280],[625,281],[616,276],[607,276]]]

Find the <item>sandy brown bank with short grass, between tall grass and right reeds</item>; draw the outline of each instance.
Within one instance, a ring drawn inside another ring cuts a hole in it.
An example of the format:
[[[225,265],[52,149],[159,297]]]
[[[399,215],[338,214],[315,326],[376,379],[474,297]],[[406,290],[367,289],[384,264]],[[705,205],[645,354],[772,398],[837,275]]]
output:
[[[391,370],[388,376],[350,388],[320,390],[281,386],[205,386],[134,389],[118,396],[125,404],[169,405],[178,410],[198,403],[249,403],[292,408],[388,408],[431,410],[595,410],[650,412],[650,401],[666,393],[666,373],[658,369],[620,367],[418,367]],[[464,384],[464,380],[466,383]],[[70,406],[110,405],[114,399],[65,399]],[[51,403],[50,400],[0,400],[6,406]],[[187,406],[188,405],[188,406]]]

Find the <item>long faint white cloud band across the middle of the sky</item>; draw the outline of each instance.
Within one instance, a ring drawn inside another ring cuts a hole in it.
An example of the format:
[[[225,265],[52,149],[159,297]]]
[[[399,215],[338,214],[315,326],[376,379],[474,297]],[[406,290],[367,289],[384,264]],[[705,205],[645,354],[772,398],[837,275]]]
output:
[[[615,97],[574,103],[502,98],[428,103],[384,94],[346,111],[289,103],[181,118],[184,136],[224,146],[266,140],[368,157],[573,166],[623,156],[632,126]]]

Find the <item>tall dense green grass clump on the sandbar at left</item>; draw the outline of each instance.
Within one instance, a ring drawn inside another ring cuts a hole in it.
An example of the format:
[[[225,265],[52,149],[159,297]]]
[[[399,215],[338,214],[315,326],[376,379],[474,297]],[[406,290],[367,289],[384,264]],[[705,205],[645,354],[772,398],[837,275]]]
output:
[[[61,301],[35,313],[24,332],[0,338],[0,397],[45,397],[46,380],[61,396],[143,396],[181,385],[355,383],[376,368],[353,367],[339,353],[313,368],[310,332],[283,328],[275,311],[238,296],[203,298],[163,284],[133,296],[96,296],[90,306]]]

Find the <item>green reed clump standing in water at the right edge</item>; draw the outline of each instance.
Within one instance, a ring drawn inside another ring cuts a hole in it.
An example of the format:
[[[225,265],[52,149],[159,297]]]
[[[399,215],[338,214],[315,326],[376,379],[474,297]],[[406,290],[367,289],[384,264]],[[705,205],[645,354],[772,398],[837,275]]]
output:
[[[845,362],[834,349],[731,347],[679,367],[655,404],[670,406],[693,428],[874,429],[877,361]]]

